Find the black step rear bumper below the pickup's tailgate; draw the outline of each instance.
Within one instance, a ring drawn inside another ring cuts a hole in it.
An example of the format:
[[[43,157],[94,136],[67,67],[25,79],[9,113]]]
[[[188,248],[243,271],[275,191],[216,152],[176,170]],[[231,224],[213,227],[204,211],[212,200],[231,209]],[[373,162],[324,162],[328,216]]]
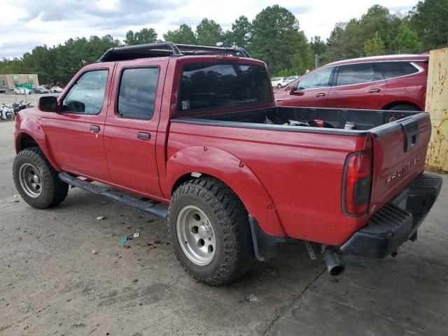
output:
[[[372,216],[340,250],[346,254],[384,258],[416,232],[433,206],[442,187],[442,178],[423,174]]]

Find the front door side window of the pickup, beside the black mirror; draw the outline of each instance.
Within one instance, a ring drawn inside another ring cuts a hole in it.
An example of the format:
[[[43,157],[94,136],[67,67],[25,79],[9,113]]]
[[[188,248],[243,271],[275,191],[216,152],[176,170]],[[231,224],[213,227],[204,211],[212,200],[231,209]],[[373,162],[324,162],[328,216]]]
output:
[[[107,70],[95,70],[84,73],[73,84],[62,102],[62,111],[97,114],[101,111],[106,90]]]

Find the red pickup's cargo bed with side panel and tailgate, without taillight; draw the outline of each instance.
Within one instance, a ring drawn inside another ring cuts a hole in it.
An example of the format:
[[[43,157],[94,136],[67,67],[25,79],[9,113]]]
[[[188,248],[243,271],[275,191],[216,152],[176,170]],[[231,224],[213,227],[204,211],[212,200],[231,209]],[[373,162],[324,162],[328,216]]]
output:
[[[323,120],[327,127],[283,125],[289,120]],[[344,129],[347,121],[353,130]],[[195,146],[231,153],[272,197],[286,235],[335,246],[423,172],[430,137],[428,113],[411,111],[275,106],[190,113],[171,122],[168,158]],[[342,197],[344,167],[349,155],[365,151],[372,155],[370,201],[363,216],[350,216]],[[215,164],[224,169],[228,161]],[[267,216],[257,218],[262,229],[280,235]]]

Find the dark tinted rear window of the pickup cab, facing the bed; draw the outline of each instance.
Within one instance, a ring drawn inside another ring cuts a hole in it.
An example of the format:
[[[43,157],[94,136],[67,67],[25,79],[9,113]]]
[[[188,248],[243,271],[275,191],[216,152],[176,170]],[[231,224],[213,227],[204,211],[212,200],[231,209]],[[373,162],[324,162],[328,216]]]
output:
[[[183,66],[179,110],[218,109],[271,102],[263,66],[201,63]]]

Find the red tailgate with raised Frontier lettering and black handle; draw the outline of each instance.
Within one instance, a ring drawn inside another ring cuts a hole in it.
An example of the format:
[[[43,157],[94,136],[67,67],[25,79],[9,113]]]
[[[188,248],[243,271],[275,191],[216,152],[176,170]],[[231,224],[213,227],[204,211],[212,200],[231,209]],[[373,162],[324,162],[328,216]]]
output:
[[[429,114],[424,112],[371,130],[373,174],[369,214],[378,211],[423,172],[430,132]]]

